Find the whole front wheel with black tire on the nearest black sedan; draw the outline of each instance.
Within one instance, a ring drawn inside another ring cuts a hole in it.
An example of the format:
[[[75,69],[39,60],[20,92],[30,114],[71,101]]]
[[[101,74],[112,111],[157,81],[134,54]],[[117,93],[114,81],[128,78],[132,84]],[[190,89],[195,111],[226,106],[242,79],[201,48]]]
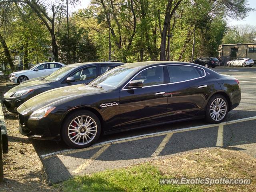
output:
[[[99,118],[94,113],[88,110],[76,110],[65,118],[60,134],[68,146],[72,148],[86,148],[98,140],[101,124]],[[81,121],[83,121],[83,125],[80,123]],[[89,123],[89,126],[85,125],[86,121]]]

